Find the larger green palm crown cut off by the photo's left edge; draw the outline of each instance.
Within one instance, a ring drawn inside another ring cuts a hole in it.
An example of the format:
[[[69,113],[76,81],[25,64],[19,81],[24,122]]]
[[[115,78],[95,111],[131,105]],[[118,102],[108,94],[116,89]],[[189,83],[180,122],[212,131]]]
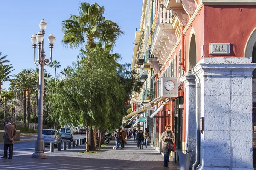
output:
[[[3,82],[9,81],[12,82],[12,77],[14,77],[14,74],[11,74],[14,69],[12,69],[12,65],[3,65],[0,64],[0,96],[1,96],[1,91],[2,91],[2,85]]]

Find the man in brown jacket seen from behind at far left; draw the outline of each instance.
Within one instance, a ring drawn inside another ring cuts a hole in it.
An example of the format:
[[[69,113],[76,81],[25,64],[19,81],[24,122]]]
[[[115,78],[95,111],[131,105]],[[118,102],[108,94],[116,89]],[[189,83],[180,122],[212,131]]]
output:
[[[14,125],[10,123],[9,120],[4,121],[4,135],[3,135],[3,156],[1,158],[12,159],[13,155],[13,144],[15,137],[17,135],[17,131]],[[8,148],[9,148],[9,157],[8,156]]]

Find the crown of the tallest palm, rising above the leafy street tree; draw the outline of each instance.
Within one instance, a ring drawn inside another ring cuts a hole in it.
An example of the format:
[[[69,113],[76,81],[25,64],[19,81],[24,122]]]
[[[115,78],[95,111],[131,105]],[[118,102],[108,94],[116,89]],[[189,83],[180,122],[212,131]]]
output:
[[[84,45],[86,39],[90,48],[93,48],[94,39],[115,44],[117,38],[124,33],[118,24],[103,17],[104,11],[104,6],[100,7],[97,3],[92,5],[81,3],[79,15],[70,15],[70,19],[62,22],[64,31],[62,42],[70,45],[70,48]]]

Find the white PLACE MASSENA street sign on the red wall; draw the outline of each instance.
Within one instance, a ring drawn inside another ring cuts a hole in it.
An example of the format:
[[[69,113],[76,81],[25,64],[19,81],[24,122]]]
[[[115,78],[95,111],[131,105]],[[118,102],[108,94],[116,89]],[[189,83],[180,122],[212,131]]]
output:
[[[210,55],[230,55],[230,43],[210,43]]]

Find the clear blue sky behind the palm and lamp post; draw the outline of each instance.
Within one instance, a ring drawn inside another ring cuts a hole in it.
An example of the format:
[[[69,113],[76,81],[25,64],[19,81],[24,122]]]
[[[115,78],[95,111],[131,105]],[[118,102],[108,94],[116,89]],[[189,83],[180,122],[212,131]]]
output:
[[[35,69],[33,61],[33,48],[30,41],[32,34],[40,31],[38,23],[44,19],[47,23],[45,37],[51,33],[55,35],[56,42],[53,48],[53,60],[60,62],[61,68],[72,65],[76,60],[79,49],[70,49],[62,45],[61,21],[68,19],[69,14],[78,14],[77,0],[1,0],[0,1],[0,51],[8,55],[13,65],[14,74],[23,68]],[[88,0],[85,0],[88,2]],[[125,35],[116,42],[113,52],[122,55],[121,63],[131,63],[135,29],[140,27],[142,0],[90,0],[105,7],[105,18],[121,26]],[[44,51],[49,58],[49,43],[45,41]],[[46,71],[54,77],[54,69],[46,66]],[[2,88],[9,88],[9,82]]]

